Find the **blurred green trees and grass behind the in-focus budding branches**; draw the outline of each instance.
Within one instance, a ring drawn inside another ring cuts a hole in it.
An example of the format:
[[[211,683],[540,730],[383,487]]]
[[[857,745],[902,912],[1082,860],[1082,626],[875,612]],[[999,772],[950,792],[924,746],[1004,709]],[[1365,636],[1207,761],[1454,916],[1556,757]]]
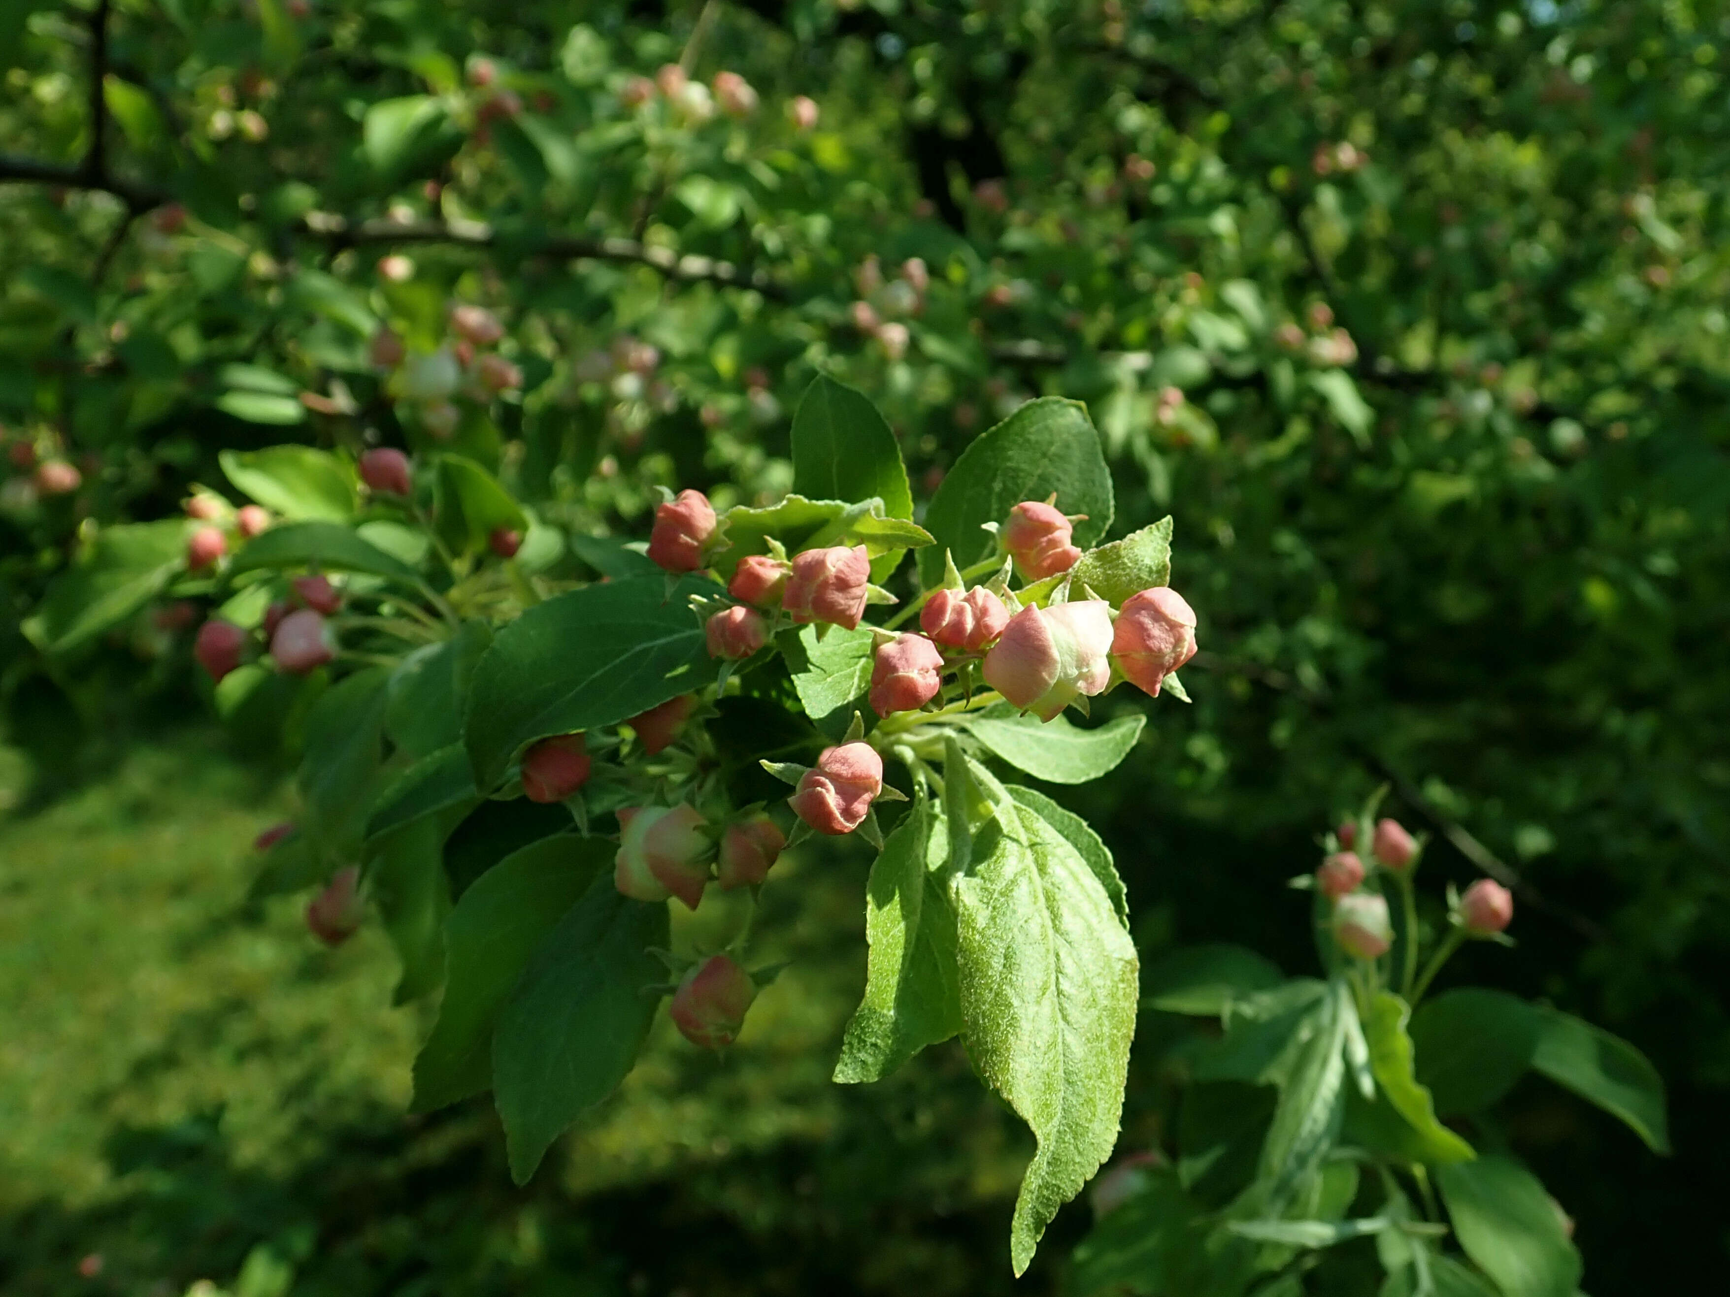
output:
[[[9,1290],[67,1292],[93,1252],[92,1290],[249,1264],[254,1297],[285,1268],[296,1292],[1007,1285],[1024,1150],[960,1057],[823,1079],[860,861],[806,861],[780,932],[808,958],[728,1065],[663,1048],[517,1195],[483,1109],[400,1115],[422,1024],[384,1010],[382,948],[315,955],[244,910],[284,754],[163,738],[208,709],[173,619],[73,659],[24,635],[81,536],[178,514],[221,448],[427,444],[367,342],[431,349],[457,299],[524,375],[465,399],[457,443],[573,533],[640,527],[663,482],[778,495],[817,372],[872,394],[924,491],[1028,396],[1086,399],[1118,529],[1175,514],[1202,616],[1195,706],[1062,792],[1144,955],[1306,970],[1280,884],[1391,780],[1448,839],[1429,870],[1522,879],[1519,949],[1457,975],[1669,1081],[1668,1162],[1515,1093],[1590,1290],[1721,1266],[1727,40],[1730,7],[1682,0],[0,0]],[[756,111],[626,104],[682,55]],[[43,491],[43,460],[80,488]],[[1169,1129],[1142,1034],[1124,1148]]]

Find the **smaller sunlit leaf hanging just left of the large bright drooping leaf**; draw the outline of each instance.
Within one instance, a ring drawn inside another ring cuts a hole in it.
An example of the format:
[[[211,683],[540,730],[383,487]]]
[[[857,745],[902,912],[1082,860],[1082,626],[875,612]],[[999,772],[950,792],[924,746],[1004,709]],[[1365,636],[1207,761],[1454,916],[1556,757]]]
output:
[[[865,885],[865,998],[848,1022],[836,1081],[882,1081],[962,1029],[943,811],[922,801],[884,840]]]

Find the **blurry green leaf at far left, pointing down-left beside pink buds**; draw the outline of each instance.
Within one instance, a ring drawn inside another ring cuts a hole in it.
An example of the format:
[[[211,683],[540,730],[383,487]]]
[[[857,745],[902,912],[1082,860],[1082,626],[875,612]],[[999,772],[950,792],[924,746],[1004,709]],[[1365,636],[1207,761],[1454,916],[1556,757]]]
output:
[[[121,624],[182,569],[187,529],[180,519],[102,527],[48,583],[24,635],[45,654],[64,654]]]

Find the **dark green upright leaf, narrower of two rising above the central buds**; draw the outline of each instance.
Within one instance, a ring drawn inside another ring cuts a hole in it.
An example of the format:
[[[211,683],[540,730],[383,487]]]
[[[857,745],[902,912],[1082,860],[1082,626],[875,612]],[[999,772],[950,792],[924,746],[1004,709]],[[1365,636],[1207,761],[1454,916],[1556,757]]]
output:
[[[913,517],[901,446],[877,406],[863,394],[817,375],[792,417],[792,489],[811,500],[882,500],[891,519]],[[891,550],[872,564],[886,581],[900,564]]]

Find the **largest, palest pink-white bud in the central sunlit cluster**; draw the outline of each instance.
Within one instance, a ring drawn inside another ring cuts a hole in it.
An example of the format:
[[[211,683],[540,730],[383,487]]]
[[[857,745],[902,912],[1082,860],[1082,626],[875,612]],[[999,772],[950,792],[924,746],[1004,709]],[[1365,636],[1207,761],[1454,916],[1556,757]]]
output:
[[[1100,598],[1041,609],[1029,604],[1010,619],[984,655],[984,680],[1010,704],[1050,721],[1078,697],[1111,683],[1111,605]]]

